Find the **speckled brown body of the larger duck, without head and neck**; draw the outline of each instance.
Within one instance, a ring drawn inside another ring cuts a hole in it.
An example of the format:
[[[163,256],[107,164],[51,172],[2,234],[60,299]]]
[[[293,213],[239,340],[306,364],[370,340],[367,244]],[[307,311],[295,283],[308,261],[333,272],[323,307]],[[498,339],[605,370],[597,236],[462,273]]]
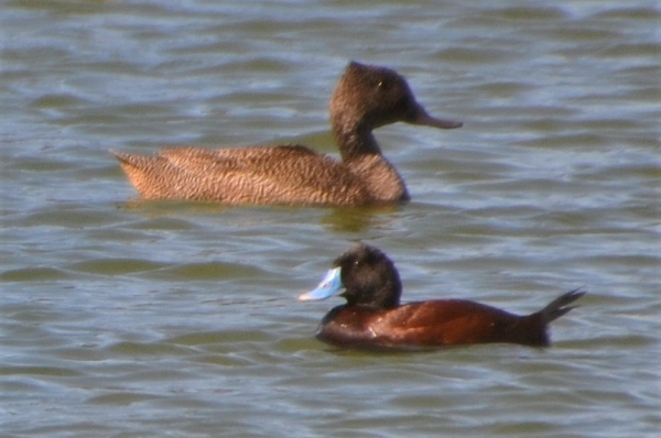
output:
[[[344,163],[301,145],[113,154],[143,199],[346,206],[408,199],[401,177],[382,155]],[[366,173],[369,177],[361,177]]]

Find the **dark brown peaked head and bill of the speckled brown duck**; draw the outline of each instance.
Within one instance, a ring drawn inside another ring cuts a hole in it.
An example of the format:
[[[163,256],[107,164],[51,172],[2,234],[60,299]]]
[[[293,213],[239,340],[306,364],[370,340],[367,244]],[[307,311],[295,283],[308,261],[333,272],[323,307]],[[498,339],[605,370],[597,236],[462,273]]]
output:
[[[330,118],[336,133],[371,131],[400,121],[443,129],[462,127],[462,122],[429,116],[397,72],[356,62],[349,63],[335,88]]]

